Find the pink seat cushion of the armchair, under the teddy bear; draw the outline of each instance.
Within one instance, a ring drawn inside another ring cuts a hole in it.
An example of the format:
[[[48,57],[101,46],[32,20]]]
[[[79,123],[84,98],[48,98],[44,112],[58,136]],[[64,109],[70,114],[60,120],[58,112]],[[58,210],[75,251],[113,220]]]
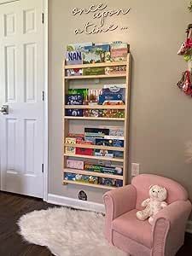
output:
[[[145,247],[151,248],[152,227],[148,224],[148,220],[138,220],[136,212],[137,210],[134,209],[115,218],[112,222],[112,229],[123,236],[143,244]]]

